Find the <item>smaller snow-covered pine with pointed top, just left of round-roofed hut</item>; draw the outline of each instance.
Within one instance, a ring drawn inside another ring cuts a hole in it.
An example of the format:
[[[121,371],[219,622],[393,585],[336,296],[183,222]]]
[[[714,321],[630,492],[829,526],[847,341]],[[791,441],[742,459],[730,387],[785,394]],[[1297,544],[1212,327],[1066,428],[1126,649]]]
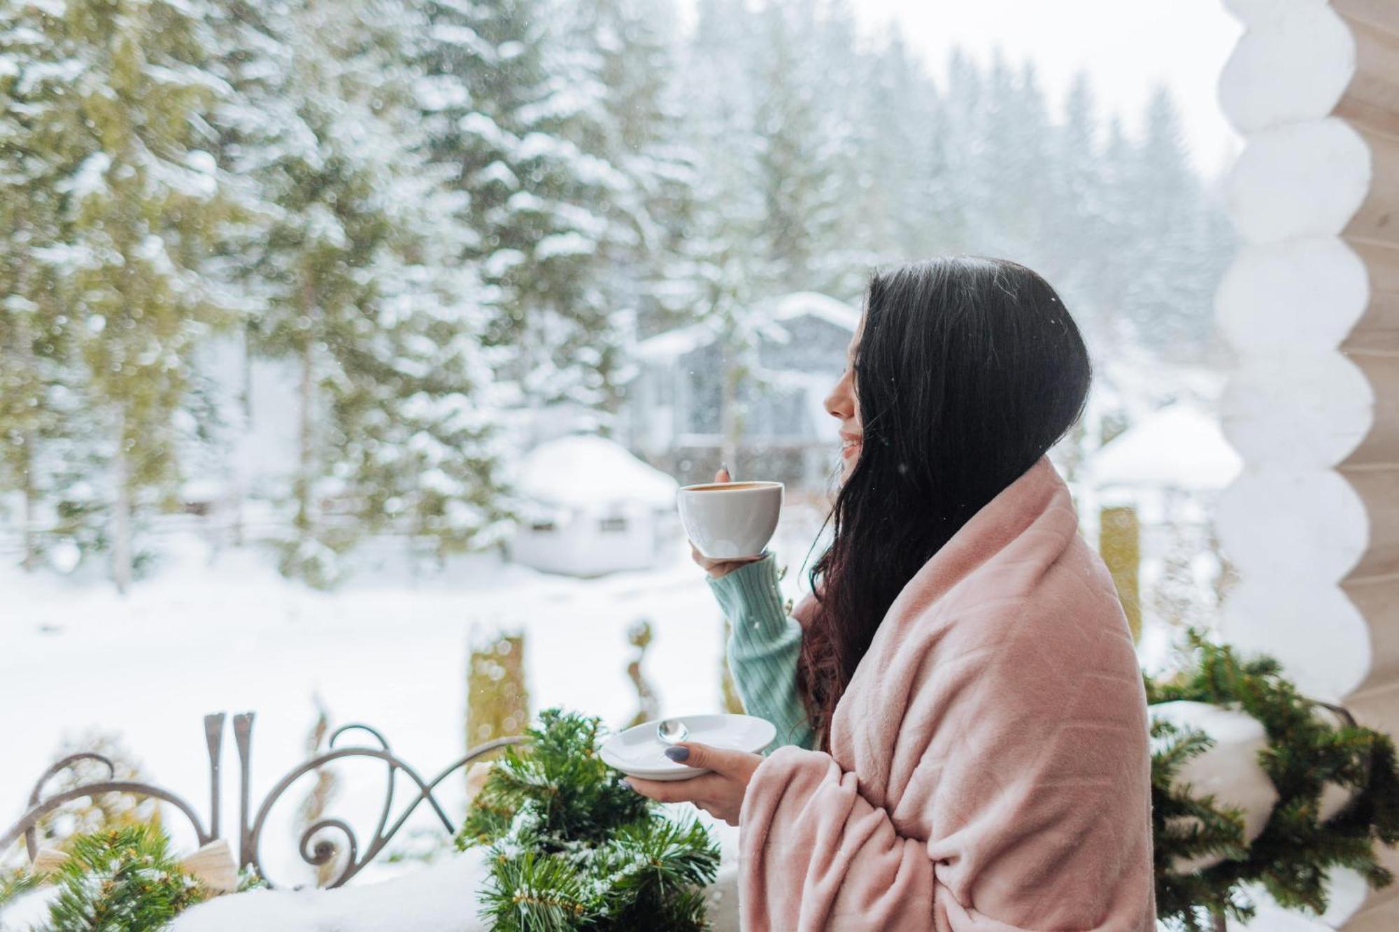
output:
[[[417,171],[390,186],[393,243],[371,269],[376,327],[341,350],[332,421],[360,526],[396,529],[441,557],[505,533],[506,452],[481,288],[470,267],[452,264],[457,220],[434,203],[431,168]]]

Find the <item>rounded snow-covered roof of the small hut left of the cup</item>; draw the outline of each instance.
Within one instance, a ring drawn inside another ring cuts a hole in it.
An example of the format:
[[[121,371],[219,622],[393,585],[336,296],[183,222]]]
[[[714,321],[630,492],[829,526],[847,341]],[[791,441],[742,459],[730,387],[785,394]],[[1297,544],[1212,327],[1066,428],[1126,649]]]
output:
[[[613,501],[670,505],[680,487],[603,437],[575,434],[540,444],[520,463],[519,491],[541,502],[588,507]]]

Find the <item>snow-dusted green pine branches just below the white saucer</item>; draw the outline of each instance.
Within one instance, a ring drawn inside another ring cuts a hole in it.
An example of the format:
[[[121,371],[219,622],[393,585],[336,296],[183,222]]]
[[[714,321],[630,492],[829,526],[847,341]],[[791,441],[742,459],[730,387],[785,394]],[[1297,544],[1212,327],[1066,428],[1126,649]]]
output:
[[[499,932],[708,928],[704,887],[719,848],[698,821],[672,821],[597,757],[599,719],[540,714],[471,803],[459,848],[487,845],[481,915]]]

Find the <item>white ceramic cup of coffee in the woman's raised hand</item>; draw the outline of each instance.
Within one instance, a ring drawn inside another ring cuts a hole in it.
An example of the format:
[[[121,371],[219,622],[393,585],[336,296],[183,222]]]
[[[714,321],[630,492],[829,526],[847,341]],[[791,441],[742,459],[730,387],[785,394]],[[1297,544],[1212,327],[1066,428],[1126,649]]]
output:
[[[676,493],[680,523],[709,560],[757,557],[782,512],[782,483],[702,483]]]

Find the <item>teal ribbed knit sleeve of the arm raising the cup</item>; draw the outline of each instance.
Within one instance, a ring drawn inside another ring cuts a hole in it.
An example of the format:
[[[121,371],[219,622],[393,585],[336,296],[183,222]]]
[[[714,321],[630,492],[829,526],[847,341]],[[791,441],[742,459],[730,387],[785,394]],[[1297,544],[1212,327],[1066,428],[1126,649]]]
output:
[[[796,690],[802,624],[783,607],[772,554],[708,581],[732,628],[729,670],[743,708],[776,725],[774,747],[814,747],[816,736]]]

